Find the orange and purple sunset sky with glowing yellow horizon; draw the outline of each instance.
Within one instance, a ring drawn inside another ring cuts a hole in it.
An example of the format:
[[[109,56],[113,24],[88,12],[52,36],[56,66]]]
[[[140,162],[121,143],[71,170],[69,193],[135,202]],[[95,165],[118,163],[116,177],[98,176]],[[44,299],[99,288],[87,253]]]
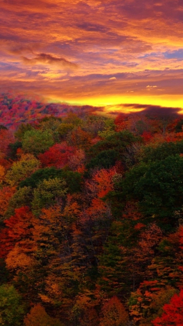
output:
[[[0,0],[0,92],[183,112],[183,0]]]

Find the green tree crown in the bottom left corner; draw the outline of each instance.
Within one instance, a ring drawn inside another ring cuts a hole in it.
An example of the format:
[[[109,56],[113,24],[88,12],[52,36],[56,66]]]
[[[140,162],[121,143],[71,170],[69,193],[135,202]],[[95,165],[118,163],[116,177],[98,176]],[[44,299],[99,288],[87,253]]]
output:
[[[21,326],[24,308],[21,296],[13,285],[0,286],[0,324],[2,326]]]

